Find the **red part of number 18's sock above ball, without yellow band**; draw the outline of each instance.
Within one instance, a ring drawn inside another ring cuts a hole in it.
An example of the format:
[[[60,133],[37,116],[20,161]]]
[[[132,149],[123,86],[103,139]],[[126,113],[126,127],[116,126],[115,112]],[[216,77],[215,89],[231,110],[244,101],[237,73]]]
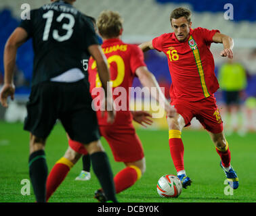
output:
[[[184,145],[182,138],[170,138],[169,146],[175,169],[177,172],[184,170]]]

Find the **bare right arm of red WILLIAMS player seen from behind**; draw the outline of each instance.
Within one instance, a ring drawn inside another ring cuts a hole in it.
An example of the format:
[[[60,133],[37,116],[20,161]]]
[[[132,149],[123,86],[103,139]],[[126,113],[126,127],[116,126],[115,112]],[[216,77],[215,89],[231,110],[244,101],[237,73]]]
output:
[[[156,88],[156,92],[152,92],[152,96],[158,101],[163,107],[165,108],[165,111],[167,112],[168,117],[174,117],[176,114],[176,109],[169,104],[169,101],[165,98],[165,94],[161,91],[160,86],[158,85],[158,82],[156,81],[156,78],[154,77],[154,74],[152,74],[145,66],[137,68],[135,71],[137,77],[139,78],[140,82],[143,86],[146,86],[148,88]],[[155,94],[154,94],[155,93]]]

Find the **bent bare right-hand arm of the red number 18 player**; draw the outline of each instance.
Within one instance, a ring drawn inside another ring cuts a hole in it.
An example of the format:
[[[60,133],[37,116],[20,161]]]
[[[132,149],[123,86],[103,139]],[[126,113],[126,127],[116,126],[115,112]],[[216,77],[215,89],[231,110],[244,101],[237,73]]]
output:
[[[222,43],[223,44],[223,51],[219,53],[222,57],[228,57],[229,59],[233,59],[233,47],[234,47],[234,40],[230,36],[226,34],[221,34],[216,32],[213,36],[213,42],[215,43]]]

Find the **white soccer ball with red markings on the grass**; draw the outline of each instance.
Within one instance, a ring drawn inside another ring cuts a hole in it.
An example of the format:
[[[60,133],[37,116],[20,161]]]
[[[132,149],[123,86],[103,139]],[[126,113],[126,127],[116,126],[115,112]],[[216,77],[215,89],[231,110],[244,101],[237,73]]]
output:
[[[182,182],[175,175],[163,175],[156,184],[161,197],[178,197],[182,193]]]

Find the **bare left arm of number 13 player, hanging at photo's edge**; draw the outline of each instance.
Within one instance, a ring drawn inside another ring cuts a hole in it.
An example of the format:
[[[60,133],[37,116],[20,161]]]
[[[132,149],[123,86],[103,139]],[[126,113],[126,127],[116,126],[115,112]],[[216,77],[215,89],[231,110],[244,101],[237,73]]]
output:
[[[5,44],[5,50],[3,54],[5,77],[3,88],[1,89],[0,93],[0,101],[3,107],[8,107],[7,97],[10,96],[12,100],[14,99],[14,67],[16,64],[17,49],[26,41],[27,37],[28,34],[26,30],[18,27],[14,30],[11,36],[9,36]]]

